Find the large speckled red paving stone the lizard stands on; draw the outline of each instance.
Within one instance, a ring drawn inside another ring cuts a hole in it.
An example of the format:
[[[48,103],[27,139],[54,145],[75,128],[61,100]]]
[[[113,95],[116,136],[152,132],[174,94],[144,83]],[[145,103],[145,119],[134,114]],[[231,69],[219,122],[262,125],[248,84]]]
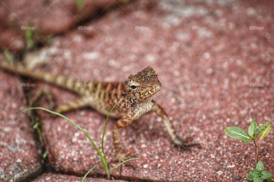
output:
[[[255,147],[228,138],[223,130],[247,130],[252,118],[273,121],[272,12],[271,1],[134,1],[84,24],[93,31],[76,28],[54,38],[49,49],[43,48],[50,59],[41,58],[40,63],[55,74],[121,82],[147,66],[156,69],[162,89],[154,100],[166,109],[179,136],[193,135],[202,148],[172,148],[161,119],[145,115],[120,132],[124,151],[140,158],[132,162],[135,170],[124,167],[123,179],[243,181],[254,167]],[[37,82],[36,88],[42,86]],[[58,103],[77,97],[50,88]],[[92,109],[66,116],[100,145],[104,116]],[[108,160],[114,157],[114,123],[110,119],[104,142]],[[42,125],[49,161],[61,173],[83,175],[100,162],[92,145],[84,143],[86,137],[63,119],[44,117]],[[273,138],[272,130],[259,156],[272,173]],[[100,168],[91,173],[104,174]]]

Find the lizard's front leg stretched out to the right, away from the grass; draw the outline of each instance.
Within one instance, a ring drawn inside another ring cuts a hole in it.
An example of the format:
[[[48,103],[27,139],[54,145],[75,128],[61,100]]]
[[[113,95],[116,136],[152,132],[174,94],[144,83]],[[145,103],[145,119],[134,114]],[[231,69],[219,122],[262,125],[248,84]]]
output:
[[[166,111],[164,111],[164,109],[159,106],[157,103],[154,102],[154,107],[152,109],[157,115],[159,115],[162,120],[164,121],[165,127],[168,131],[168,134],[170,135],[170,137],[172,138],[173,142],[175,145],[182,147],[184,149],[189,150],[190,146],[197,146],[200,145],[198,143],[186,143],[187,139],[189,137],[186,137],[184,140],[181,140],[177,134],[176,131],[174,129],[174,126],[172,125],[171,121],[168,119],[168,115],[166,114]]]

